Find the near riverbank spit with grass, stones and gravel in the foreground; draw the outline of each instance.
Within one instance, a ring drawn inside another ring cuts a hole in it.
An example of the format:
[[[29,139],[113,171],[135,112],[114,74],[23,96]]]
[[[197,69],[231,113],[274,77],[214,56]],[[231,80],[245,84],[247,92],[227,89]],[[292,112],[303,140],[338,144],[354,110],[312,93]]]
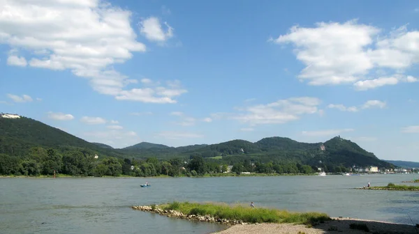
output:
[[[207,221],[225,224],[226,230],[218,234],[230,233],[387,233],[417,234],[418,225],[395,224],[383,221],[351,218],[330,218],[318,212],[288,212],[286,210],[268,208],[250,208],[243,205],[227,205],[223,203],[178,203],[163,205],[138,205],[133,210],[155,212],[160,215],[187,219],[191,221]]]

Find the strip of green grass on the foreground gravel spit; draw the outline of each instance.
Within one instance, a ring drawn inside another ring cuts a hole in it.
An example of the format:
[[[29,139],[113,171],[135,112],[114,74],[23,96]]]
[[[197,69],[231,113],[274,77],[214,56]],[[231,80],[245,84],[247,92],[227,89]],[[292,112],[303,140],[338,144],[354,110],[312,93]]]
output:
[[[316,224],[330,220],[328,214],[318,212],[288,212],[270,208],[251,208],[226,203],[179,203],[174,201],[163,205],[164,210],[177,210],[183,214],[210,215],[216,219],[242,220],[247,223],[295,223]]]

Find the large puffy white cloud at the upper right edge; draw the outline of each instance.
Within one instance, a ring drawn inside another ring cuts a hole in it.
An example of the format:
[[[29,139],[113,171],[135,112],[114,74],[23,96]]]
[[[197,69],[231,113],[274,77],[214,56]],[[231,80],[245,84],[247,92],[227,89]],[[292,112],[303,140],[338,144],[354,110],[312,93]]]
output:
[[[367,78],[374,70],[386,68],[404,73],[419,63],[419,31],[407,31],[403,26],[388,35],[378,36],[380,32],[356,20],[343,24],[320,22],[312,28],[293,26],[288,34],[270,41],[295,45],[297,59],[306,66],[298,78],[310,85],[349,83],[358,90],[367,90],[399,81],[417,81],[409,76]]]

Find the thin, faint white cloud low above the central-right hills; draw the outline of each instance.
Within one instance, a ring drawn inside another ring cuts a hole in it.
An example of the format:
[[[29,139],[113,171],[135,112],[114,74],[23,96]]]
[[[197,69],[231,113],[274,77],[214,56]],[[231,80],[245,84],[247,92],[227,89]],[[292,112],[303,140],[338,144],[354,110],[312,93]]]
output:
[[[213,118],[232,118],[250,125],[286,123],[297,120],[304,114],[318,113],[318,98],[301,97],[278,100],[270,104],[238,109],[242,114],[213,114]]]

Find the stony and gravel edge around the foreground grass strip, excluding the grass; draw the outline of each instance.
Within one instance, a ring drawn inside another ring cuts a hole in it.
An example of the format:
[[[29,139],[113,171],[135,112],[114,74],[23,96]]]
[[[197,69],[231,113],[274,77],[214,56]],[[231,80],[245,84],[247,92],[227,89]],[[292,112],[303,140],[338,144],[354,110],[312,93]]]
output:
[[[241,220],[219,219],[209,214],[183,214],[177,210],[165,210],[160,207],[164,205],[138,205],[132,206],[133,210],[143,212],[154,212],[175,219],[186,219],[189,221],[204,221],[225,225],[226,228],[211,234],[286,234],[286,233],[305,233],[305,234],[325,234],[325,233],[387,233],[387,234],[417,234],[419,224],[397,224],[389,221],[376,221],[369,219],[353,219],[351,217],[330,217],[328,220],[317,220],[312,224],[298,223],[247,223]]]

